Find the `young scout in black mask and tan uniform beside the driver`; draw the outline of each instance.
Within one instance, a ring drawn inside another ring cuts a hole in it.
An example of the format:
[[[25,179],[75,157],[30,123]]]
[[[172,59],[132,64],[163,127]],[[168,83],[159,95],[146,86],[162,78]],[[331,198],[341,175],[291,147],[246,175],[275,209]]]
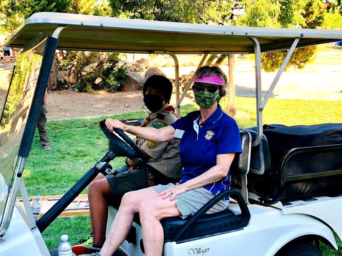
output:
[[[172,83],[162,75],[148,77],[143,86],[144,103],[150,110],[142,127],[156,129],[166,127],[177,120],[174,108],[169,105]],[[139,166],[126,158],[126,165],[116,169],[116,176],[103,174],[91,182],[88,198],[91,214],[91,233],[87,240],[73,246],[76,255],[98,252],[105,241],[108,205],[119,207],[122,196],[157,184],[176,182],[181,177],[179,140],[170,142],[152,142],[142,138],[136,144],[147,157],[147,165]]]

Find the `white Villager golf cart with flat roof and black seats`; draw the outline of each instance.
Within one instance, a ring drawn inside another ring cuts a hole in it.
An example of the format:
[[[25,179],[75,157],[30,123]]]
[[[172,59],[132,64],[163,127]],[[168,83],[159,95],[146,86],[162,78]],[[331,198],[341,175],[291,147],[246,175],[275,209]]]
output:
[[[110,161],[115,157],[146,163],[127,134],[109,132],[101,120],[108,152],[37,223],[34,221],[22,173],[56,49],[169,54],[175,61],[178,116],[194,77],[180,96],[175,54],[203,54],[200,67],[209,54],[254,53],[257,126],[240,131],[243,152],[233,161],[234,186],[193,216],[163,219],[163,255],[321,255],[319,241],[337,250],[334,232],[342,238],[342,124],[263,127],[262,111],[295,48],[341,39],[340,30],[230,27],[62,13],[32,15],[5,43],[23,51],[16,60],[0,122],[0,188],[5,193],[0,197],[0,254],[56,255],[55,250],[49,252],[41,232],[94,177],[114,172]],[[282,49],[289,49],[288,54],[262,100],[260,54]],[[24,207],[16,200],[18,190]],[[205,214],[228,195],[228,209]],[[117,206],[109,207],[107,231],[116,212]],[[139,215],[115,255],[144,255]]]

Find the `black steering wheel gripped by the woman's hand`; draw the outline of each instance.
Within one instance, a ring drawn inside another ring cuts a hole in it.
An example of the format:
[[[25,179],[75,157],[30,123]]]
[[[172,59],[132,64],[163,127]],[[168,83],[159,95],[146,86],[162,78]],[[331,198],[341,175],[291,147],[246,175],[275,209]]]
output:
[[[108,130],[106,127],[106,119],[100,121],[100,127],[103,133],[108,138],[108,147],[111,152],[117,156],[126,156],[132,161],[143,165],[147,162],[147,158],[141,149],[132,141],[126,133],[120,129],[114,128],[115,133]],[[121,140],[120,138],[123,140]],[[125,143],[126,142],[126,143]]]

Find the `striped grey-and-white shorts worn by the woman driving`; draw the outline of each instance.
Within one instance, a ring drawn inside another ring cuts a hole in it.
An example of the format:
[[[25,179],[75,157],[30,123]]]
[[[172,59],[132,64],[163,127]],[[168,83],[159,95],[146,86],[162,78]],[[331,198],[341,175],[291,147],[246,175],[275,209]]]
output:
[[[167,185],[157,185],[152,188],[156,190],[159,194],[162,191],[168,189],[169,187],[173,187],[178,185],[179,183],[172,184],[169,183]],[[182,194],[176,195],[174,199],[178,199],[176,201],[176,206],[178,210],[182,213],[182,218],[185,219],[188,216],[194,215],[203,205],[205,205],[210,199],[212,199],[215,195],[211,193],[211,191],[199,187],[195,189],[190,189]],[[229,204],[229,200],[221,200],[216,203],[212,208],[208,210],[206,214],[221,212],[227,209]]]

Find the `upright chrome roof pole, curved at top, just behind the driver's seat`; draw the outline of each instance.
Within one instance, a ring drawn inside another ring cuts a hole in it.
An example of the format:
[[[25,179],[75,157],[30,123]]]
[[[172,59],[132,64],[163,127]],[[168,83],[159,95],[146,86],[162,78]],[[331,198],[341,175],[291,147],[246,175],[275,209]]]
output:
[[[257,98],[257,138],[252,142],[252,147],[258,146],[262,139],[262,113],[260,111],[261,104],[261,49],[258,39],[248,37],[254,45],[255,54],[255,95]]]

